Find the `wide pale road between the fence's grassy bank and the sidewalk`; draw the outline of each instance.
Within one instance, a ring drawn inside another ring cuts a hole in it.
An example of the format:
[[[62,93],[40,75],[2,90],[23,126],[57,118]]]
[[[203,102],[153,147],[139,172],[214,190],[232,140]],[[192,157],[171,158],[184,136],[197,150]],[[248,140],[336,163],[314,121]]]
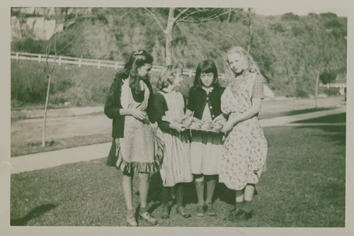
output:
[[[331,97],[318,100],[319,108],[345,106],[343,97]],[[295,99],[287,101],[265,101],[261,115],[314,108],[313,99]],[[11,121],[11,142],[21,143],[42,141],[43,111],[13,111],[11,118],[28,117],[30,119]],[[46,140],[56,140],[84,135],[110,135],[112,120],[103,114],[103,107],[62,108],[48,110]]]

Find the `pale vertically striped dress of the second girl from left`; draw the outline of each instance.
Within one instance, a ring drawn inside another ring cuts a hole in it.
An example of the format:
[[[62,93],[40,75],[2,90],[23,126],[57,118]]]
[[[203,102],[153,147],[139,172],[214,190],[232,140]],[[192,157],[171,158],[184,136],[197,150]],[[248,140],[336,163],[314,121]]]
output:
[[[168,118],[181,118],[184,115],[184,101],[181,93],[172,91],[162,93],[166,100],[168,111],[165,116]],[[165,187],[174,186],[182,182],[193,181],[190,165],[190,143],[187,132],[178,133],[176,130],[164,132],[158,128],[156,136],[164,140],[164,160],[160,174],[162,184]]]

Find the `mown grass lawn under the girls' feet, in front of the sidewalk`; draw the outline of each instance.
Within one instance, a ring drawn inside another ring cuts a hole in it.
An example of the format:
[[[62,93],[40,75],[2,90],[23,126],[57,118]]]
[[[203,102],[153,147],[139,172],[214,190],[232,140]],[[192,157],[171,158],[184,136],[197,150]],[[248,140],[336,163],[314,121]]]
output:
[[[193,184],[185,186],[186,209],[193,214],[163,220],[161,181],[152,176],[148,208],[158,226],[212,227],[344,227],[346,193],[346,127],[338,125],[268,127],[267,171],[256,186],[251,220],[222,220],[234,194],[219,184],[216,217],[195,216]],[[135,176],[134,189],[138,189]],[[11,225],[123,226],[122,173],[105,159],[11,175]],[[134,197],[135,206],[139,196]],[[149,226],[139,222],[141,226]]]

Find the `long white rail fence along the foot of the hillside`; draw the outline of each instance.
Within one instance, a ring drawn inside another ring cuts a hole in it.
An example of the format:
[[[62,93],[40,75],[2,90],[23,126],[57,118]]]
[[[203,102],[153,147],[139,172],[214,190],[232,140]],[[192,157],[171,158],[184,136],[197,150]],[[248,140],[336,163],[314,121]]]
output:
[[[122,69],[124,67],[124,62],[115,62],[108,60],[93,60],[93,59],[85,59],[78,57],[64,57],[59,56],[55,57],[55,55],[43,55],[43,54],[35,54],[35,53],[27,53],[27,52],[11,52],[11,59],[15,60],[30,60],[35,62],[55,62],[57,64],[77,64],[79,67],[81,66],[90,66],[97,67],[100,69],[101,67],[108,67],[113,69]],[[153,72],[160,72],[161,66],[153,66]],[[188,77],[193,77],[195,72],[191,69],[183,69],[183,75],[187,75]],[[220,79],[224,79],[224,74],[219,74]]]

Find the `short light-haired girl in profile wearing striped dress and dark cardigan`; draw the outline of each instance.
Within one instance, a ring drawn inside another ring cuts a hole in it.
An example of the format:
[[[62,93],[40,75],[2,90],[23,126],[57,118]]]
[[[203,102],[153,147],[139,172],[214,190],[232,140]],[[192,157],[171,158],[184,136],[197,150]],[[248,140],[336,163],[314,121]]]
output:
[[[181,93],[175,89],[181,86],[181,69],[167,66],[161,69],[157,87],[160,89],[154,97],[154,120],[159,128],[156,136],[164,142],[164,160],[161,165],[163,213],[161,218],[169,218],[168,193],[174,188],[176,212],[184,218],[190,214],[183,208],[183,183],[193,181],[190,169],[189,135],[178,120],[184,115],[185,102]]]

